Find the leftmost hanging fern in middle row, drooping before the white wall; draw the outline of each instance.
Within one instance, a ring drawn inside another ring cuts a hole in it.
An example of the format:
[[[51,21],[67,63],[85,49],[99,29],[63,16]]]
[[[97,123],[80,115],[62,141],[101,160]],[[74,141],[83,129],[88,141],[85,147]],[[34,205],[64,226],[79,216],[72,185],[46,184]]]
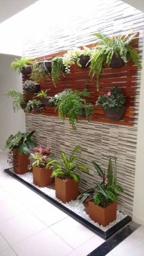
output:
[[[19,109],[26,108],[26,102],[24,102],[24,95],[21,92],[18,92],[17,90],[10,89],[7,91],[6,94],[8,97],[13,98],[13,111],[17,112]]]

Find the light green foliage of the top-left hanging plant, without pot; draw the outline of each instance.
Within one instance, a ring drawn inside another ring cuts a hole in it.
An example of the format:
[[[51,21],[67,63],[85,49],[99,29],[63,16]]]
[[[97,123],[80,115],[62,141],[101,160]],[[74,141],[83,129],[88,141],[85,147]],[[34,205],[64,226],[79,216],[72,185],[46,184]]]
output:
[[[18,69],[18,72],[20,73],[24,67],[27,67],[27,65],[32,65],[34,62],[34,59],[32,58],[26,58],[26,57],[21,57],[21,59],[15,59],[11,63],[11,67]]]

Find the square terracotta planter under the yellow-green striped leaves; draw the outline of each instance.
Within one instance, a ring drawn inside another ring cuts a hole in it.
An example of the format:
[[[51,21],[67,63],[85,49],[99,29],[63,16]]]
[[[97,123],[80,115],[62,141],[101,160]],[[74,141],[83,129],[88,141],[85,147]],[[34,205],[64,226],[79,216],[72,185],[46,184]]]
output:
[[[73,179],[62,180],[62,178],[55,178],[56,197],[63,203],[71,200],[76,200],[79,192],[79,185]]]

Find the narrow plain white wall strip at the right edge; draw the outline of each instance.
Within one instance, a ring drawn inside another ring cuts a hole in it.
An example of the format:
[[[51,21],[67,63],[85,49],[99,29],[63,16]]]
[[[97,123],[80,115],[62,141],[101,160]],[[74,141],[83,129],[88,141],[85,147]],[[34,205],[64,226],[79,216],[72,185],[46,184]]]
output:
[[[144,44],[143,44],[144,49]],[[140,87],[139,122],[137,135],[137,158],[135,167],[135,192],[133,219],[144,225],[144,51]]]

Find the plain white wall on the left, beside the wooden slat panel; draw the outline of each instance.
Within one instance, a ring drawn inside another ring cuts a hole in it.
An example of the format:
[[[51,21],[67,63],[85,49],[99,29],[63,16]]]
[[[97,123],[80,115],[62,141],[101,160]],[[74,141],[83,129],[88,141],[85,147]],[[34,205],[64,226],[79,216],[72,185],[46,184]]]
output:
[[[13,112],[12,99],[5,96],[9,89],[22,91],[22,78],[13,68],[12,60],[18,56],[0,54],[0,150],[4,148],[5,139],[17,131],[25,131],[23,110]]]

